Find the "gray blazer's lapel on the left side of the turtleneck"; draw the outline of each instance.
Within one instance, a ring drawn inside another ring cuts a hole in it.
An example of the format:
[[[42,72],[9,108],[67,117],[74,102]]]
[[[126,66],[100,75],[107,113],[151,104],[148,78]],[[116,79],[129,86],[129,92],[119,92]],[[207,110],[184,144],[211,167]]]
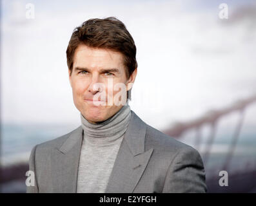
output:
[[[77,192],[77,171],[83,140],[79,126],[52,155],[53,192]]]

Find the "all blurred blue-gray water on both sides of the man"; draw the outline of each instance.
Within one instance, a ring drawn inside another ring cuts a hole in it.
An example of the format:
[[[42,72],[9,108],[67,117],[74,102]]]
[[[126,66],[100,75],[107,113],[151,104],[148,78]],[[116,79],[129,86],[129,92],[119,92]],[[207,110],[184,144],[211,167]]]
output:
[[[2,125],[1,164],[8,165],[15,164],[16,162],[27,162],[34,145],[69,133],[77,127],[70,125]],[[188,133],[186,136],[193,135]],[[181,138],[179,140],[197,149],[193,138]],[[231,138],[226,133],[220,133],[213,142],[208,162],[205,164],[208,174],[217,173],[223,169],[230,142]],[[199,149],[203,160],[206,144],[207,139],[204,138],[201,142],[201,149]],[[229,169],[231,172],[235,172],[250,168],[256,168],[256,134],[242,133],[235,147]]]

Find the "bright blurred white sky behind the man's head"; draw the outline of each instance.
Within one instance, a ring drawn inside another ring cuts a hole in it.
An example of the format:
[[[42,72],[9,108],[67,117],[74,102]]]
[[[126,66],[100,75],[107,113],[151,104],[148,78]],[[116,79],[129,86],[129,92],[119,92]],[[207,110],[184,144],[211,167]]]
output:
[[[26,19],[27,3],[35,19]],[[228,19],[219,19],[221,3]],[[79,126],[66,47],[95,17],[115,16],[132,34],[139,67],[130,106],[157,129],[255,93],[255,1],[21,0],[2,1],[1,10],[2,123]]]

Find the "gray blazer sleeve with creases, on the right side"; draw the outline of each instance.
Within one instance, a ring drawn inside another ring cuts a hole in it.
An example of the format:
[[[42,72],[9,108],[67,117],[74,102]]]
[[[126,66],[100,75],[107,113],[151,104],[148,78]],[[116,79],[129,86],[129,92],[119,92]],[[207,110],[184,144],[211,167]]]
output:
[[[164,181],[163,193],[166,192],[206,192],[204,165],[199,152],[193,147],[186,147],[173,158]]]

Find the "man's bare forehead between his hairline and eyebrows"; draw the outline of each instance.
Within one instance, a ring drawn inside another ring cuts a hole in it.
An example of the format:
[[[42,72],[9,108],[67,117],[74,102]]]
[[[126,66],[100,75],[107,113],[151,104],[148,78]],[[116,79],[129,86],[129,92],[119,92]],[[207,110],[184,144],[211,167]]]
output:
[[[86,66],[87,68],[104,68],[123,66],[123,55],[103,48],[92,48],[79,44],[74,53],[74,67]]]

